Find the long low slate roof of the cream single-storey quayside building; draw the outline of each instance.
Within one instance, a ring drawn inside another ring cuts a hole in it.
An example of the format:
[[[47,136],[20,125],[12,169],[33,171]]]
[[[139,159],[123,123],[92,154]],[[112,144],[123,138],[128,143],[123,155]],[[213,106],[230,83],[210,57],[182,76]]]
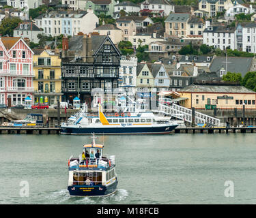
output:
[[[242,86],[232,85],[213,85],[213,84],[192,84],[180,92],[192,92],[192,93],[255,93],[250,89],[246,89]]]

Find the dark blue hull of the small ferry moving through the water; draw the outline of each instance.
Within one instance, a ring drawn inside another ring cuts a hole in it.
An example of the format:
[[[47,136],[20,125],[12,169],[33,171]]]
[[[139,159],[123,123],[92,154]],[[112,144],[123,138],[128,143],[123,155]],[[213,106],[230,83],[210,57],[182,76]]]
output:
[[[70,192],[70,196],[108,196],[111,193],[114,193],[117,189],[117,181],[115,183],[104,186],[104,185],[95,185],[95,186],[87,186],[87,185],[73,185],[68,186],[68,191]]]

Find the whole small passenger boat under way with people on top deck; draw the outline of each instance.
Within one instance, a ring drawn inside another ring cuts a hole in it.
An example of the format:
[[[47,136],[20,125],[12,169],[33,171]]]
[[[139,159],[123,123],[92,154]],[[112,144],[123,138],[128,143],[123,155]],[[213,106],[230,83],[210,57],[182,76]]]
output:
[[[102,144],[95,143],[93,136],[91,144],[83,146],[85,156],[70,157],[70,196],[108,196],[116,191],[115,155],[103,154],[103,147]]]

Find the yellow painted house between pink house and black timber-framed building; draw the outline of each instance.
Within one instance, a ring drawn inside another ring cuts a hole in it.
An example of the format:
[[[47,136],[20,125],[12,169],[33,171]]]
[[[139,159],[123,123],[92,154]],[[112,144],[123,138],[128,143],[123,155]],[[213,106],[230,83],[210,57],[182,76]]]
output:
[[[48,104],[49,106],[61,101],[61,59],[51,50],[33,50],[33,78],[34,103]]]

